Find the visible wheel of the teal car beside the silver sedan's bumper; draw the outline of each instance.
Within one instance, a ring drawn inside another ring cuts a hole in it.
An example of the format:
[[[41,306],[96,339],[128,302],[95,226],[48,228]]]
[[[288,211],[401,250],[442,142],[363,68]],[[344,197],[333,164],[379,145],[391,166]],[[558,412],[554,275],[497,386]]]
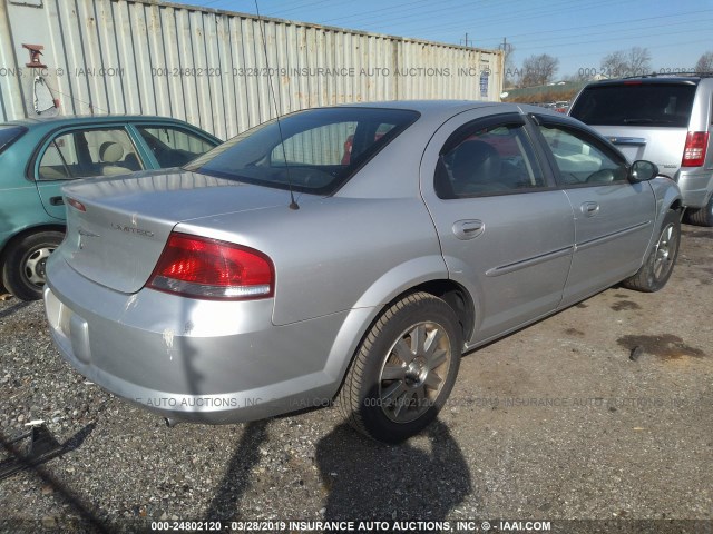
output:
[[[12,244],[2,265],[2,285],[20,300],[42,298],[45,266],[62,241],[61,231],[40,231]]]

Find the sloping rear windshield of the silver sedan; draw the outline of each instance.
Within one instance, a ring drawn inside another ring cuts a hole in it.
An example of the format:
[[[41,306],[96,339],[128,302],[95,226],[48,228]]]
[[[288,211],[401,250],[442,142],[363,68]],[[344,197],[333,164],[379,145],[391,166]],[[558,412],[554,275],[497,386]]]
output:
[[[331,195],[419,118],[381,108],[310,109],[247,130],[186,167],[247,184]]]

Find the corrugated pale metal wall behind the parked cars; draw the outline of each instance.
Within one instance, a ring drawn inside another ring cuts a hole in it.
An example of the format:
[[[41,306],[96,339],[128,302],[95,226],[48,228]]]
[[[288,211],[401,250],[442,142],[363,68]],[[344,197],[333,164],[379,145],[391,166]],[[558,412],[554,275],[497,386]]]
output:
[[[502,53],[157,0],[0,0],[0,120],[162,115],[226,139],[276,115],[271,83],[280,113],[499,100]]]

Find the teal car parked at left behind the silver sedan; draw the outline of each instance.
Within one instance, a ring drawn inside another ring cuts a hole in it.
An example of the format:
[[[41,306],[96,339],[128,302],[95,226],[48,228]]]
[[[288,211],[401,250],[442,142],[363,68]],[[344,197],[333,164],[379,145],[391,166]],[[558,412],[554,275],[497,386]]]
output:
[[[0,123],[0,271],[22,300],[41,298],[45,264],[65,234],[70,180],[180,167],[221,141],[182,120],[150,116]]]

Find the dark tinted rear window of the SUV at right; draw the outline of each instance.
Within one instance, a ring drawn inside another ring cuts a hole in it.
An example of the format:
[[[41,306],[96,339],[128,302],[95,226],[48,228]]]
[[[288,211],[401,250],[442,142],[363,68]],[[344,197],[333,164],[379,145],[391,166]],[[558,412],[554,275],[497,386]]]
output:
[[[586,88],[569,115],[587,125],[687,128],[695,85],[638,83]]]

